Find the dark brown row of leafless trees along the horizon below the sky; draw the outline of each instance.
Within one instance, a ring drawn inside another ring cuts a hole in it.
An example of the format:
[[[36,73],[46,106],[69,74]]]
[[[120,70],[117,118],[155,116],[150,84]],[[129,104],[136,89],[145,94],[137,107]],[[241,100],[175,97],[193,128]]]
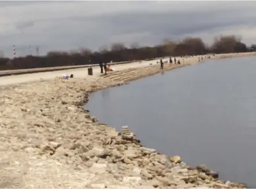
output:
[[[80,49],[76,52],[48,52],[45,56],[17,57],[14,59],[0,58],[0,70],[16,70],[29,68],[45,68],[54,66],[98,64],[99,62],[123,62],[130,60],[151,60],[157,57],[223,54],[234,52],[254,52],[256,44],[247,47],[241,37],[235,35],[218,36],[207,46],[200,38],[187,37],[179,42],[164,39],[157,46],[139,46],[134,42],[130,47],[123,43],[115,43],[108,49],[101,47],[93,52]]]

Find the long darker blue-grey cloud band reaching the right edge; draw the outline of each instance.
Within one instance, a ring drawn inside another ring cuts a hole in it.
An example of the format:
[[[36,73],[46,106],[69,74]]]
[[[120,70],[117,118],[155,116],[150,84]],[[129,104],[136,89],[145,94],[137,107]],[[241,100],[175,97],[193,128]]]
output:
[[[237,25],[255,26],[256,14],[244,12],[242,17],[234,16],[236,14],[238,14],[237,10],[218,12],[201,10],[182,14],[180,12],[134,12],[133,14],[113,14],[90,19],[98,25],[115,26],[108,28],[109,33],[112,34],[150,31],[152,34],[180,36]]]

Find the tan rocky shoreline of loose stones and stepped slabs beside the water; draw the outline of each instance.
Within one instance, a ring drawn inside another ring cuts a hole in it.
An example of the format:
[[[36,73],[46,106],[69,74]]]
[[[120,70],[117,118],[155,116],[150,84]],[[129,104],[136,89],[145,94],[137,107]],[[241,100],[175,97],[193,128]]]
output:
[[[119,133],[83,108],[91,92],[159,72],[139,69],[1,87],[0,187],[246,188],[143,147],[128,126]]]

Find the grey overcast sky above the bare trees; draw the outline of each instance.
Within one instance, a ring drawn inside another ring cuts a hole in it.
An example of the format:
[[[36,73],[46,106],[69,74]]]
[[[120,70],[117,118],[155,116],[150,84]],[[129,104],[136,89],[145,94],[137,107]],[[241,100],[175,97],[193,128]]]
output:
[[[88,47],[113,42],[154,45],[200,36],[239,34],[256,42],[255,1],[0,1],[0,50],[12,55]],[[0,52],[0,55],[2,53]]]

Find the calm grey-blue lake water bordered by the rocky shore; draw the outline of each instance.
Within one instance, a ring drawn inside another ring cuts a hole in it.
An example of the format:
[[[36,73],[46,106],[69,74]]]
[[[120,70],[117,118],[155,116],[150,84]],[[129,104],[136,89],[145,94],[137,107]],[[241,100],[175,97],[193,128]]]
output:
[[[91,94],[102,123],[146,146],[256,187],[256,58],[209,60]]]

